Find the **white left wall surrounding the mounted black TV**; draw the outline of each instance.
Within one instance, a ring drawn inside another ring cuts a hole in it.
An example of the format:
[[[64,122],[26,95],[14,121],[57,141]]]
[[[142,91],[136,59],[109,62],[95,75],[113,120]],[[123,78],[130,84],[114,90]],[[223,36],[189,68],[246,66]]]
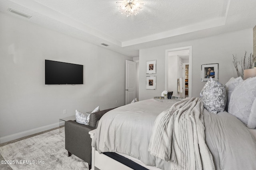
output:
[[[75,109],[125,104],[132,58],[7,14],[0,23],[0,143],[56,127]],[[84,65],[84,84],[45,85],[45,59]]]

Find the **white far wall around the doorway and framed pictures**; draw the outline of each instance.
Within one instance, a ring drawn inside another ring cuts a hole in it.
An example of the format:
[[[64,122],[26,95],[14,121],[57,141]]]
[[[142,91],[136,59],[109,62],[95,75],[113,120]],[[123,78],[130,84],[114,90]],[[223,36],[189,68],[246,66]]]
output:
[[[238,58],[253,51],[253,32],[246,29],[192,41],[185,41],[140,50],[140,100],[160,96],[165,86],[165,51],[192,46],[192,96],[199,97],[206,82],[201,82],[201,64],[219,63],[219,82],[225,84],[232,76],[237,77],[232,54]],[[156,90],[146,90],[146,61],[156,61]]]

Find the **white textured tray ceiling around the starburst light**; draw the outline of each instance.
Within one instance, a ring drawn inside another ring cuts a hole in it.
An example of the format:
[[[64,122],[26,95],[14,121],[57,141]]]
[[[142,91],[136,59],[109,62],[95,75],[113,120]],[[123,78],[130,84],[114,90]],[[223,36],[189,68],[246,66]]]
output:
[[[0,0],[0,11],[130,57],[139,49],[252,29],[256,0],[141,0],[136,16],[118,0]],[[30,19],[10,13],[13,8]]]

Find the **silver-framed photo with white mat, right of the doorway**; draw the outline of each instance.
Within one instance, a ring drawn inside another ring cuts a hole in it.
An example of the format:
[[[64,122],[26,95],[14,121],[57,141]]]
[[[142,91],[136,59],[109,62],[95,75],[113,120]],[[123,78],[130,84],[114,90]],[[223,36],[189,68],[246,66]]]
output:
[[[210,77],[219,80],[219,63],[201,65],[201,81],[208,81]]]

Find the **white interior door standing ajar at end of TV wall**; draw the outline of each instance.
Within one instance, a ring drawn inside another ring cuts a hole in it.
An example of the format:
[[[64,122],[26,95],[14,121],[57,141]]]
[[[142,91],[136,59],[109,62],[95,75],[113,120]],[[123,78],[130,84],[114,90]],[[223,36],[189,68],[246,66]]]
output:
[[[136,98],[136,62],[126,60],[125,104]]]

